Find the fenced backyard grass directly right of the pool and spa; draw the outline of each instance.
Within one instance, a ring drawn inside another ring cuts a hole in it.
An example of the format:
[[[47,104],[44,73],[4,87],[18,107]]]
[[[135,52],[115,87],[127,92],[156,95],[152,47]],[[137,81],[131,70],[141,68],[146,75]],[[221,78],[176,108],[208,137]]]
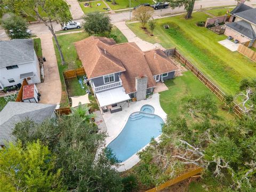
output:
[[[165,113],[170,117],[181,115],[181,104],[184,97],[210,93],[219,107],[218,115],[228,119],[233,118],[227,111],[221,109],[223,103],[190,71],[186,71],[180,77],[165,81],[165,85],[169,90],[159,93],[160,104]]]

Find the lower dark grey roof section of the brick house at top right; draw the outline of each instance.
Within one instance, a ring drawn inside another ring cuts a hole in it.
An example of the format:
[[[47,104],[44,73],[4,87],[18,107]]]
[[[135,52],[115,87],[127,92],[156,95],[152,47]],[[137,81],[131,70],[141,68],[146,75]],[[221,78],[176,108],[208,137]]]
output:
[[[229,23],[226,23],[226,26],[250,39],[256,39],[255,31],[253,30],[249,22],[246,22],[244,20],[237,21],[237,22],[229,22]]]

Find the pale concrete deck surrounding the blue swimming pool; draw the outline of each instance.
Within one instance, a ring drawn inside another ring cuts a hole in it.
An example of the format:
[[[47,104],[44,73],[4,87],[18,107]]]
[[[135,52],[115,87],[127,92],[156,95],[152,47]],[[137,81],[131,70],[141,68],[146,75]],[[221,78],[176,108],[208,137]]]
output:
[[[160,105],[158,93],[154,93],[151,98],[146,100],[130,102],[129,107],[128,107],[128,103],[125,102],[122,105],[122,108],[123,108],[122,111],[119,111],[114,114],[110,114],[110,113],[103,114],[103,119],[107,126],[107,134],[108,134],[108,137],[106,138],[106,146],[108,146],[108,144],[111,141],[113,141],[119,135],[119,133],[122,132],[126,122],[128,121],[129,116],[134,112],[140,111],[140,108],[143,105],[153,106],[155,109],[154,114],[158,115],[165,121],[167,114],[164,112],[164,110]],[[143,137],[143,135],[141,135],[141,137]],[[120,163],[119,164],[120,166],[117,167],[117,171],[122,172],[128,169],[131,169],[131,167],[133,167],[139,161],[140,161],[139,156],[137,154],[134,154],[130,158],[128,158],[126,161]]]

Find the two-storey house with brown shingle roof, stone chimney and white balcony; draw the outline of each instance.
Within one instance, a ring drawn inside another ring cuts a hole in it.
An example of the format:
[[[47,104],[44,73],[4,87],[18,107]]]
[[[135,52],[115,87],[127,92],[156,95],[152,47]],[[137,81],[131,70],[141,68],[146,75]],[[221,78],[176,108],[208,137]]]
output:
[[[173,78],[179,70],[161,50],[142,52],[135,43],[91,36],[75,47],[103,111],[131,98],[146,99],[156,82]]]

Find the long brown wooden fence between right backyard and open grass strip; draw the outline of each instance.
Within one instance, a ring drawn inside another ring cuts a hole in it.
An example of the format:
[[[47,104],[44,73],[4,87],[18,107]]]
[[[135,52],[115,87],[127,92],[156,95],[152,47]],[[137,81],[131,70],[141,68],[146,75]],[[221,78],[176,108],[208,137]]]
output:
[[[247,48],[247,47],[246,47]],[[201,71],[199,71],[190,61],[188,61],[178,50],[175,50],[174,57],[177,58],[187,69],[189,69],[205,86],[207,86],[221,101],[225,99],[223,93],[218,86],[214,85]],[[242,117],[242,109],[234,102],[234,113],[238,117]]]

